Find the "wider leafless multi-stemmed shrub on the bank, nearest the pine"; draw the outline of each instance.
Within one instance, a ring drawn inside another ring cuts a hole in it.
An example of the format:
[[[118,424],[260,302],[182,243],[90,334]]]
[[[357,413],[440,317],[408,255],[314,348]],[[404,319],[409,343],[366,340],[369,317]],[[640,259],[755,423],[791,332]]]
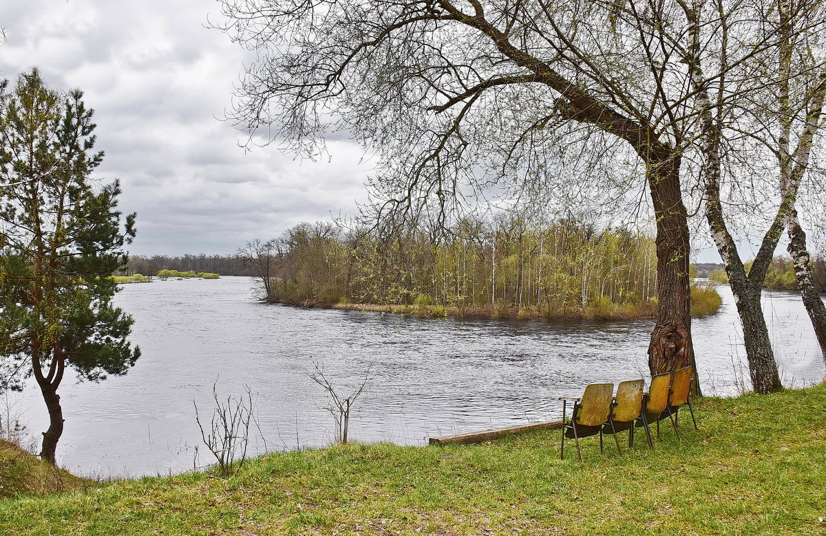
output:
[[[222,401],[218,397],[217,382],[212,384],[212,397],[215,407],[212,409],[210,430],[204,430],[195,401],[195,421],[201,429],[201,437],[207,449],[218,461],[218,470],[224,475],[238,471],[247,458],[249,443],[249,423],[253,420],[253,397],[249,386],[244,385],[244,394],[240,397],[227,395]]]

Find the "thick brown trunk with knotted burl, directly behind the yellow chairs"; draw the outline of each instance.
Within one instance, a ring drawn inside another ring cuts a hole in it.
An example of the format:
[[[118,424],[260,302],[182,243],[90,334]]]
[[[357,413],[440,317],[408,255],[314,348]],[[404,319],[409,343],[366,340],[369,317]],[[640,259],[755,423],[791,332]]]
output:
[[[648,186],[657,214],[657,324],[648,346],[651,374],[694,366],[691,343],[690,242],[680,189],[680,158],[667,153],[648,167]],[[694,382],[696,394],[700,386]]]

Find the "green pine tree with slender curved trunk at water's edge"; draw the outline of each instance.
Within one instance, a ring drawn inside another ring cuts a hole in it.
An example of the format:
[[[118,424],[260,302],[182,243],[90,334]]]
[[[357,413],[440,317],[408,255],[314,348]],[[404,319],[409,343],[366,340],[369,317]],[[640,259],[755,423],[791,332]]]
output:
[[[121,228],[117,182],[90,176],[103,156],[92,113],[81,92],[55,92],[36,70],[0,93],[0,359],[17,365],[12,388],[30,376],[40,387],[50,419],[40,456],[50,463],[67,367],[99,381],[140,355],[109,277],[125,264],[135,214]]]

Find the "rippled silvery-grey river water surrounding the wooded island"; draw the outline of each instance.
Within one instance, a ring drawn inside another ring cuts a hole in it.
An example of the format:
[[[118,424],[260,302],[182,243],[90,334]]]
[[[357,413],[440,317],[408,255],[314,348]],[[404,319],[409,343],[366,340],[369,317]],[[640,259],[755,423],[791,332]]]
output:
[[[78,474],[131,477],[213,463],[193,406],[208,421],[213,383],[224,397],[251,388],[260,428],[251,451],[329,444],[335,424],[323,409],[326,393],[308,378],[314,361],[342,392],[372,367],[351,438],[398,444],[555,419],[554,397],[647,375],[651,321],[425,320],[262,305],[253,287],[240,277],[125,285],[116,303],[135,318],[131,340],[143,355],[126,376],[64,379],[59,463]],[[748,367],[732,295],[720,291],[720,313],[692,326],[705,393],[726,396],[738,393],[743,376],[748,382]],[[784,381],[819,382],[824,362],[799,296],[764,296]],[[34,387],[16,409],[39,435],[47,419]]]

